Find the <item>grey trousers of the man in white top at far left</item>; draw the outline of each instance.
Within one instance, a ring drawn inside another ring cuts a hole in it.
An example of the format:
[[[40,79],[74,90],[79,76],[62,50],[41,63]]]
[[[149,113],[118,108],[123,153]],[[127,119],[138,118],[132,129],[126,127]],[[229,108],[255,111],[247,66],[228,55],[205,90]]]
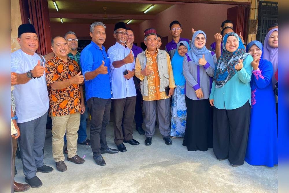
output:
[[[18,145],[23,164],[23,173],[27,179],[36,176],[36,167],[44,165],[43,147],[45,142],[48,111],[32,121],[18,123],[21,135]]]

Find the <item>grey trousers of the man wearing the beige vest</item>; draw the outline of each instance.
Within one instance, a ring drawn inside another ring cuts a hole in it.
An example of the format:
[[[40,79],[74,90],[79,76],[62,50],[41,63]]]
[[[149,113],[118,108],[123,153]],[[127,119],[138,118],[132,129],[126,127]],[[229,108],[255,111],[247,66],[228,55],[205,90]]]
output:
[[[160,133],[163,137],[170,136],[170,98],[155,100],[155,101],[144,101],[144,124],[145,124],[145,136],[152,137],[155,134],[155,119],[156,109],[158,108],[158,124]]]

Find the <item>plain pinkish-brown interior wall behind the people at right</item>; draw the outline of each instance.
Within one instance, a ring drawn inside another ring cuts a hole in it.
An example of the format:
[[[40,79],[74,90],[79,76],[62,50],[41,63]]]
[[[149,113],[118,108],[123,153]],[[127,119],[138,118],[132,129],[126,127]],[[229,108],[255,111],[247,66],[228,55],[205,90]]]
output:
[[[143,32],[154,27],[162,37],[168,36],[172,40],[169,25],[178,20],[182,25],[181,37],[192,38],[192,28],[203,30],[207,35],[207,48],[214,42],[214,34],[220,32],[221,23],[227,19],[227,9],[236,5],[187,3],[174,5],[158,14],[155,20],[146,20],[140,24]]]

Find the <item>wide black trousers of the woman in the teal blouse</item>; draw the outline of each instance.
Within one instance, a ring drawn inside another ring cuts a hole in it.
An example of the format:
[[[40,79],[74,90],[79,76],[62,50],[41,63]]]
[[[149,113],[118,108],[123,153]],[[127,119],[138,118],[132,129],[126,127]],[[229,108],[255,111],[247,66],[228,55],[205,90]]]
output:
[[[213,150],[217,158],[234,165],[244,164],[251,106],[249,101],[232,110],[214,108]]]

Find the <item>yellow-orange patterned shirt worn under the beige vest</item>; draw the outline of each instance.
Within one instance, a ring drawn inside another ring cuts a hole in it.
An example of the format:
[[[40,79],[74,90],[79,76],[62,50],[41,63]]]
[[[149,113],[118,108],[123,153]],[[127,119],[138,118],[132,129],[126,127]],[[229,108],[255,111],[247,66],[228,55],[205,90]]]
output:
[[[147,56],[147,63],[146,67],[149,70],[153,70],[153,73],[147,76],[148,80],[148,96],[142,96],[144,101],[154,101],[154,100],[161,100],[161,99],[168,99],[170,96],[166,95],[166,91],[160,92],[160,74],[158,71],[158,62],[157,62],[157,56],[158,56],[158,50],[155,52],[154,55],[150,54],[147,50],[145,50],[146,56]],[[172,66],[170,57],[167,54],[167,63],[168,65],[168,74],[170,77],[173,74]],[[136,75],[137,77],[140,77],[140,80],[144,79],[144,76],[140,74],[141,67],[140,62],[138,58],[136,59]],[[174,79],[169,78],[169,87],[175,88],[175,82]]]

